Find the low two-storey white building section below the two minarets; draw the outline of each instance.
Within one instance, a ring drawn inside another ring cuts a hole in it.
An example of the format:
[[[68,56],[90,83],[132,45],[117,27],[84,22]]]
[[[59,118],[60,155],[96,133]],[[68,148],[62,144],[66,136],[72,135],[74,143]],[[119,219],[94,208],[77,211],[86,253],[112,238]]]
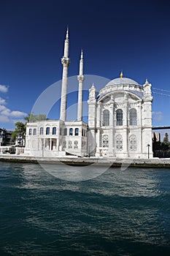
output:
[[[25,154],[63,157],[87,154],[88,124],[83,121],[47,120],[28,123]]]

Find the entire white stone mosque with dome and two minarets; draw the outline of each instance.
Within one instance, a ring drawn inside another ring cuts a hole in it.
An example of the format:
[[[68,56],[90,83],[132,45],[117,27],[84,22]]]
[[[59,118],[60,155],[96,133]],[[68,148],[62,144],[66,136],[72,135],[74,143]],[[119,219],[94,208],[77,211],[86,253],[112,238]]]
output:
[[[83,55],[77,102],[77,121],[66,121],[69,59],[67,29],[61,87],[59,120],[28,123],[25,154],[34,157],[152,158],[152,91],[135,80],[115,78],[96,94],[92,85],[88,98],[88,124],[82,121]]]

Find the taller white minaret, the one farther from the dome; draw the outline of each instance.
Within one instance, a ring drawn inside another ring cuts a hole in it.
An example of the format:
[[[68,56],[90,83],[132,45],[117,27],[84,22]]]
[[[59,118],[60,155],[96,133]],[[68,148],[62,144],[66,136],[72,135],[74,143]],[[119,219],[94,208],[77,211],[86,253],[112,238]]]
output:
[[[63,64],[63,77],[61,85],[61,116],[60,119],[66,121],[66,103],[67,103],[67,85],[68,85],[68,70],[69,70],[69,28],[67,27],[66,39],[64,42],[63,58],[61,59]]]

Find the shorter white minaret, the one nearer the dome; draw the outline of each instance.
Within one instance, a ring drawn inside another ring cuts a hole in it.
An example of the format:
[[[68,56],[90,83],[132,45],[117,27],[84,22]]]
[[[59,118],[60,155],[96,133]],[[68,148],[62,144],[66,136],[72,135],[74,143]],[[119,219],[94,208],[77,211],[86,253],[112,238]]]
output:
[[[82,121],[82,83],[85,80],[83,75],[83,53],[82,52],[80,57],[80,69],[79,69],[79,75],[77,76],[77,80],[79,81],[77,121]]]

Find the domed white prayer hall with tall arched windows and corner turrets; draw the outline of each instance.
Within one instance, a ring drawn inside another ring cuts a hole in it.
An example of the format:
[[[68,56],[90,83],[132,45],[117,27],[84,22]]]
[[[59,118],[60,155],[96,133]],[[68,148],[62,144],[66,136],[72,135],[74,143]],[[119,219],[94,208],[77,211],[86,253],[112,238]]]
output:
[[[89,140],[96,157],[152,157],[152,93],[129,78],[116,78],[96,97],[89,90]]]

